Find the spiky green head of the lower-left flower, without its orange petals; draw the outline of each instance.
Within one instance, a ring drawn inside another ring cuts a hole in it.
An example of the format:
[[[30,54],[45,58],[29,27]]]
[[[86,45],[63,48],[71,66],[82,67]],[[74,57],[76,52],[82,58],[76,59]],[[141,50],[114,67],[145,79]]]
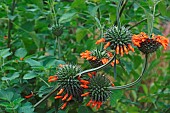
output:
[[[63,95],[72,95],[73,99],[82,101],[81,94],[83,89],[76,74],[81,72],[81,68],[77,65],[66,64],[57,69],[58,85],[60,89],[64,89]]]

